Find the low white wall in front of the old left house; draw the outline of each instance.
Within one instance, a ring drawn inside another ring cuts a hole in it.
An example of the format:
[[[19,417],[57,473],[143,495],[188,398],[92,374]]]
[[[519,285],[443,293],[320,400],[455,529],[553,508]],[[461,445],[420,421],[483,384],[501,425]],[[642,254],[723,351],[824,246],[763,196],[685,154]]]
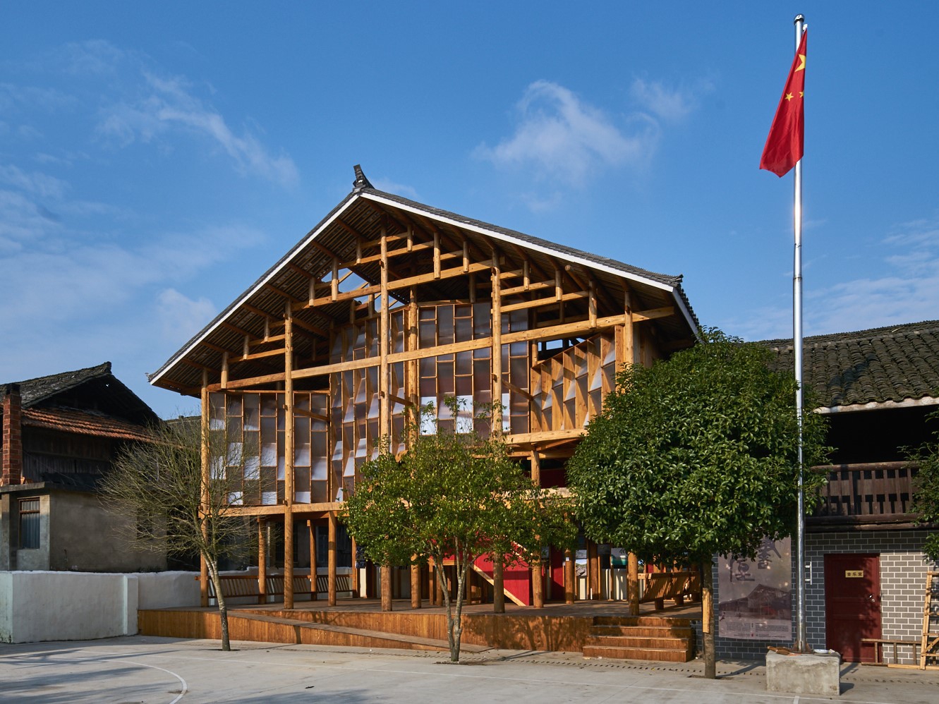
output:
[[[137,609],[199,604],[192,573],[0,572],[0,642],[137,633]]]

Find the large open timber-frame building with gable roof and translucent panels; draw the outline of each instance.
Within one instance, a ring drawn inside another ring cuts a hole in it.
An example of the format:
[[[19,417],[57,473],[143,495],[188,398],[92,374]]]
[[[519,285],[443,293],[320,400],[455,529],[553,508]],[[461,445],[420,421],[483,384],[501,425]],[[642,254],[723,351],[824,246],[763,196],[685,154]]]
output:
[[[562,486],[617,368],[693,344],[697,328],[680,276],[377,191],[357,166],[353,191],[150,381],[201,398],[209,432],[259,449],[232,510],[283,522],[290,607],[304,525],[313,552],[313,529],[328,532],[334,601],[343,496],[379,438],[405,449],[406,406],[459,423],[445,397],[500,401],[513,453]]]

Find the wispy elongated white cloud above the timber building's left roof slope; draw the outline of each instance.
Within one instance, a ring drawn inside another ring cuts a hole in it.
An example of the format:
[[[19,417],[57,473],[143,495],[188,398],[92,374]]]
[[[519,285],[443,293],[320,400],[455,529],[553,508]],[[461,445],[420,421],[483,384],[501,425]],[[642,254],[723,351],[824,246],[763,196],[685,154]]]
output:
[[[297,184],[297,166],[290,157],[270,154],[247,129],[236,134],[222,115],[192,95],[184,79],[164,79],[149,72],[144,73],[144,78],[142,98],[119,100],[104,109],[98,127],[100,134],[126,146],[136,140],[149,143],[158,135],[174,131],[189,132],[221,146],[242,174],[260,176],[286,187]]]

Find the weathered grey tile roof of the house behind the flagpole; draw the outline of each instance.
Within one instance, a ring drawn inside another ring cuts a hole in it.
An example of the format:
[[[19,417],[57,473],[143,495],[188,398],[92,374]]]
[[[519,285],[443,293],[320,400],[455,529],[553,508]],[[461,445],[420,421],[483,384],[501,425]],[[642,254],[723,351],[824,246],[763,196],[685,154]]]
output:
[[[793,369],[793,341],[760,344]],[[804,340],[805,384],[822,406],[910,402],[939,395],[939,321],[817,335]]]

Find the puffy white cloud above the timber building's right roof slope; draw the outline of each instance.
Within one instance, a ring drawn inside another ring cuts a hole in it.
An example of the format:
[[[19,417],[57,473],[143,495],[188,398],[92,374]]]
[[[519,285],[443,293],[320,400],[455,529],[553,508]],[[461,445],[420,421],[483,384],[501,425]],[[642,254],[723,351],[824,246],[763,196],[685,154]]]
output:
[[[635,115],[627,134],[602,110],[549,81],[529,85],[516,109],[515,133],[494,147],[480,145],[476,156],[564,186],[582,187],[602,167],[642,163],[659,139],[659,126],[646,115]]]

